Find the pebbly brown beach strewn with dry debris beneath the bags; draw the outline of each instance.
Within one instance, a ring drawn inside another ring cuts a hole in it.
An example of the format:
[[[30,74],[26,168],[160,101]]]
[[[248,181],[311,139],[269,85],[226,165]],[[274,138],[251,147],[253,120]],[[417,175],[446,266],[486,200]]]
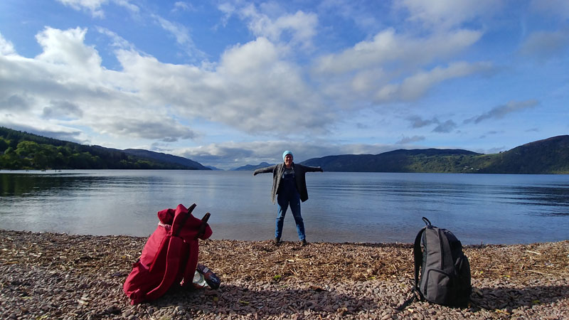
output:
[[[200,241],[217,290],[131,306],[122,284],[147,237],[0,230],[3,319],[569,319],[569,240],[467,245],[472,304],[414,302],[411,244]]]

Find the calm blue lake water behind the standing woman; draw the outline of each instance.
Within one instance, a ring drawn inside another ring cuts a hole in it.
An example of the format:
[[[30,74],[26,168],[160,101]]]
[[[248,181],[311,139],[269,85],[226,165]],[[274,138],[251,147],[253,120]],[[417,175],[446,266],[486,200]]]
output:
[[[147,237],[156,212],[211,213],[213,239],[274,237],[272,174],[249,171],[0,171],[0,228]],[[309,242],[405,242],[427,217],[463,244],[569,238],[569,175],[307,174]],[[297,241],[290,210],[283,240]]]

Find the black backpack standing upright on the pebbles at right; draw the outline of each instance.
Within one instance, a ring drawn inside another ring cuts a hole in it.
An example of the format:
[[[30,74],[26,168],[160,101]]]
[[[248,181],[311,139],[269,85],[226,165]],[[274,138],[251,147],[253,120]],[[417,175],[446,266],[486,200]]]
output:
[[[413,246],[415,292],[421,301],[466,306],[472,285],[470,264],[462,252],[462,244],[449,230],[431,225],[425,217],[422,220],[426,226],[419,231]]]

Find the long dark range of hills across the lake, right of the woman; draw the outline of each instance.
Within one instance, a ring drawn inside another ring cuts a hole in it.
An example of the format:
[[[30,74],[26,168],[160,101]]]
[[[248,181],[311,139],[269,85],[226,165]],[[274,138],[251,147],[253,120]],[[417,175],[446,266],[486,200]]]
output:
[[[569,174],[569,136],[523,144],[499,154],[461,149],[399,149],[375,155],[324,156],[301,164],[346,172]]]

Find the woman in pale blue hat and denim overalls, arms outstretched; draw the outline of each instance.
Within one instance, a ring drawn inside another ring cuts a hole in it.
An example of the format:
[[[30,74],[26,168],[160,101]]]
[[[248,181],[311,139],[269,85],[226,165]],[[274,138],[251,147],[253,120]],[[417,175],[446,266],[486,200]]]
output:
[[[307,172],[321,171],[319,166],[303,166],[302,164],[294,164],[292,161],[292,152],[285,151],[282,153],[282,164],[275,166],[267,166],[253,172],[253,176],[257,174],[266,174],[272,172],[272,193],[271,200],[275,203],[277,196],[278,213],[275,222],[275,245],[280,245],[282,236],[282,222],[285,220],[285,213],[290,206],[294,223],[297,224],[298,238],[301,245],[307,245],[306,235],[304,234],[304,222],[300,215],[300,202],[308,200],[307,182],[305,174]]]

